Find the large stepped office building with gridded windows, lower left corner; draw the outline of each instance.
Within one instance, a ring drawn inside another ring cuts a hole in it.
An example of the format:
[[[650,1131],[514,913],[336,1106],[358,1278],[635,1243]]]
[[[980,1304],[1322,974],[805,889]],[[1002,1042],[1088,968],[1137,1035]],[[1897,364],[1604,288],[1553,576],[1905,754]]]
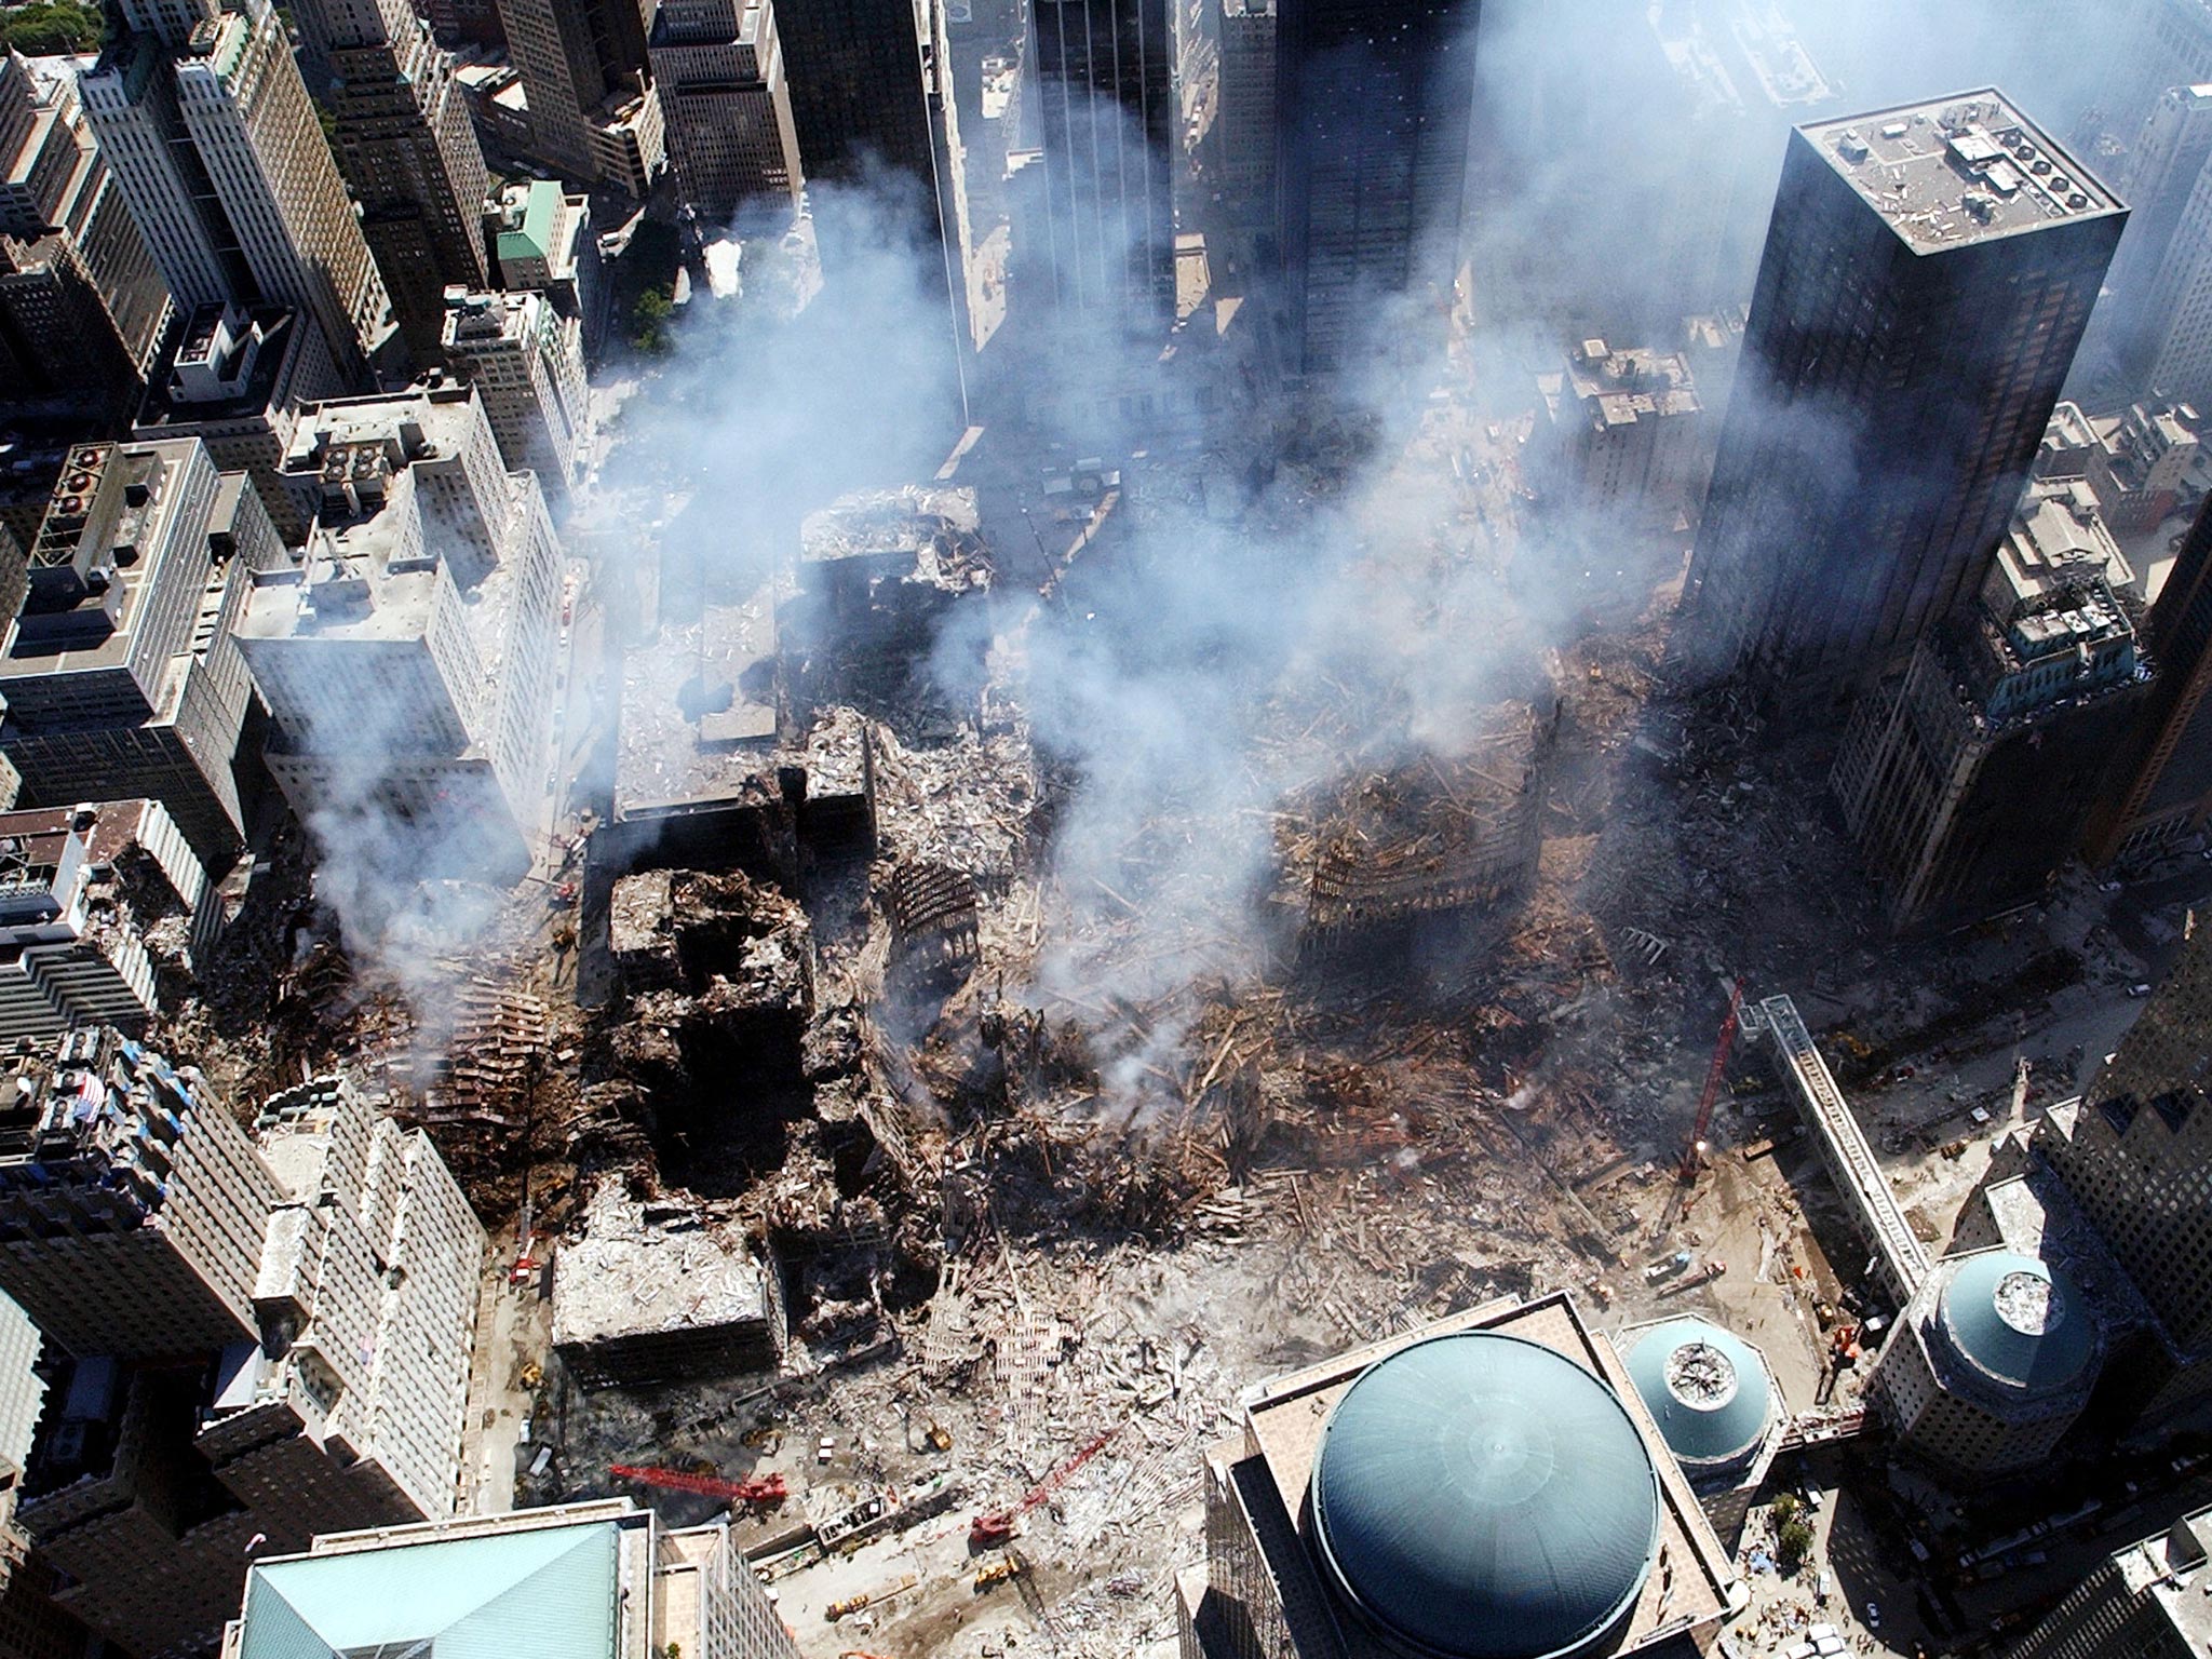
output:
[[[210,1644],[250,1557],[449,1515],[484,1232],[422,1133],[347,1082],[259,1144],[113,1031],[18,1062],[0,1290],[58,1365],[18,1520],[126,1652]]]

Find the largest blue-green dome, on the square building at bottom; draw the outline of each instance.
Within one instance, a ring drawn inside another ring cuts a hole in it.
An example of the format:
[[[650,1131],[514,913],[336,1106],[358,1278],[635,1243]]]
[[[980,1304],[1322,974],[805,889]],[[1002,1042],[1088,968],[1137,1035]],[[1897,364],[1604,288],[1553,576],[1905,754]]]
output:
[[[1338,1590],[1449,1659],[1590,1652],[1659,1548],[1659,1478],[1613,1389],[1500,1332],[1367,1367],[1323,1425],[1312,1506]]]

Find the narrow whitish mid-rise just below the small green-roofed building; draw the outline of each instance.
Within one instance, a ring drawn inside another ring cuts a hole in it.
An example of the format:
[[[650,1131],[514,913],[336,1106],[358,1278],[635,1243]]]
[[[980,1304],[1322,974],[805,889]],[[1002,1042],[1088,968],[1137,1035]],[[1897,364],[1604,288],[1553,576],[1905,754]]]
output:
[[[445,294],[445,358],[484,400],[500,456],[566,500],[591,460],[584,325],[542,292]]]

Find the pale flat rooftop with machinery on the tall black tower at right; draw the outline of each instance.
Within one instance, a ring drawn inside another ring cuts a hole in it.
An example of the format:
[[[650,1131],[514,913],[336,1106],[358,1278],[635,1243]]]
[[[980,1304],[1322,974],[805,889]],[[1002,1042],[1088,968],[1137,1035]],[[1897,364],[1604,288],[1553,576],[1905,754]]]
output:
[[[1993,86],[1812,122],[1798,135],[1920,254],[2126,212]]]

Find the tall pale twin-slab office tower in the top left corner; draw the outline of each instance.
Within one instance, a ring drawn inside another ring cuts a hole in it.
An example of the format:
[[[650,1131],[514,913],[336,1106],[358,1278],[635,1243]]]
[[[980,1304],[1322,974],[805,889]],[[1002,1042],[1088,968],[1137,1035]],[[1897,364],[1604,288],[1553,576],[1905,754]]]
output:
[[[358,374],[385,352],[392,301],[283,24],[248,2],[195,22],[166,0],[82,77],[84,108],[181,307],[303,310]]]

